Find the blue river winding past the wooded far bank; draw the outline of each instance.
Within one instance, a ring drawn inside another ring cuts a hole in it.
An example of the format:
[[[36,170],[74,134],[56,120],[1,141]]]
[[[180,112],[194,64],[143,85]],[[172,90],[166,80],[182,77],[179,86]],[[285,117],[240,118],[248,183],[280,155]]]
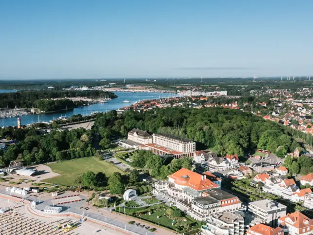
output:
[[[56,113],[20,116],[20,121],[22,125],[27,125],[38,121],[50,121],[53,119],[57,119],[60,116],[71,117],[73,114],[90,115],[92,112],[107,112],[110,110],[117,110],[119,108],[129,106],[138,100],[154,99],[159,97],[167,98],[176,96],[176,94],[172,93],[148,93],[148,92],[137,92],[137,93],[114,92],[114,94],[116,94],[118,98],[109,100],[106,103],[91,104],[88,106],[78,107],[67,111],[64,110],[62,112]],[[125,99],[130,101],[130,103],[123,103]],[[2,118],[0,119],[0,125],[15,126],[17,125],[17,117]]]

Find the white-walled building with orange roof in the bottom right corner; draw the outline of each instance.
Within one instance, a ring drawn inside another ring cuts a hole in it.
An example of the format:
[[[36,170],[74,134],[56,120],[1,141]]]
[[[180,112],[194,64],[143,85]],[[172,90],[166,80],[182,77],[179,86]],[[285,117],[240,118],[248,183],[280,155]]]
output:
[[[279,218],[278,224],[282,224],[283,232],[290,235],[310,235],[313,230],[313,219],[301,212],[294,212]]]

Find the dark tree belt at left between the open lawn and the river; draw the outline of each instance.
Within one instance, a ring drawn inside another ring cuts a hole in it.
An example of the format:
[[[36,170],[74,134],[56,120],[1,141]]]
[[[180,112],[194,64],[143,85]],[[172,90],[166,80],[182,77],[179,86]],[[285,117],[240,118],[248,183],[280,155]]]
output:
[[[0,150],[0,166],[7,166],[10,161],[23,161],[25,165],[45,163],[55,160],[94,156],[93,135],[90,130],[52,131],[41,135],[35,128],[1,128],[0,136],[16,139],[4,152]]]

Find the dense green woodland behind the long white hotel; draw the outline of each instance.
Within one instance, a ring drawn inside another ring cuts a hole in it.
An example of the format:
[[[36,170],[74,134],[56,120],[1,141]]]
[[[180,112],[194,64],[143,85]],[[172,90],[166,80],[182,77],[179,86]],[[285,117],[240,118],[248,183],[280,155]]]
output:
[[[244,156],[262,148],[283,157],[299,147],[283,126],[247,112],[222,108],[166,108],[145,113],[129,110],[122,115],[110,111],[98,114],[93,128],[102,137],[102,148],[109,147],[116,135],[126,137],[132,128],[190,138],[197,142],[197,149],[209,148],[221,156]]]

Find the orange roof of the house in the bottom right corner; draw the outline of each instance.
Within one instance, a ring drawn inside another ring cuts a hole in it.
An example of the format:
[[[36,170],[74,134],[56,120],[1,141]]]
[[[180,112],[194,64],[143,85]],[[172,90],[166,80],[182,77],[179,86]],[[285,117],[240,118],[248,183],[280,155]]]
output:
[[[279,218],[279,220],[297,229],[302,229],[302,228],[313,226],[313,219],[310,219],[309,217],[303,215],[301,212],[294,212],[292,214],[287,214],[286,216]],[[302,233],[303,233],[302,230],[299,230],[299,234],[302,234]]]

